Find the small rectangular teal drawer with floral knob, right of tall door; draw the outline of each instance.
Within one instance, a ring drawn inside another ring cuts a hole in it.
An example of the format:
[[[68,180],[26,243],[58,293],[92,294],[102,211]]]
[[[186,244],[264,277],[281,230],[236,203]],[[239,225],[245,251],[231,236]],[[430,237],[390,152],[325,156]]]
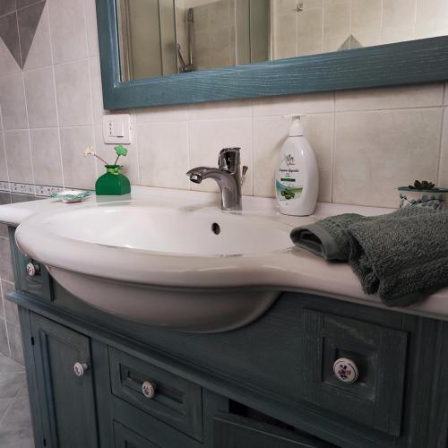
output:
[[[109,365],[116,397],[202,440],[200,386],[113,348],[109,348]]]

